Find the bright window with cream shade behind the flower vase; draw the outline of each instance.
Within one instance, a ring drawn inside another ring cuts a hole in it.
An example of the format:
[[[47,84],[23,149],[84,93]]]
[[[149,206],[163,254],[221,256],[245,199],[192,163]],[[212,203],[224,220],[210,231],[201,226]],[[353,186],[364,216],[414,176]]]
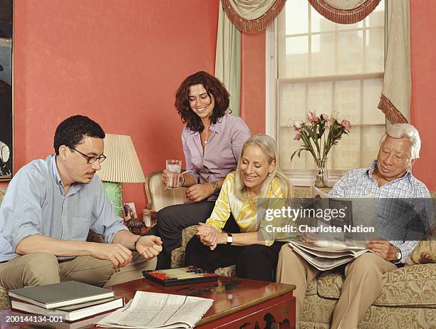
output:
[[[266,95],[274,100],[269,100],[266,130],[276,135],[281,168],[294,184],[313,183],[308,152],[291,162],[299,142],[287,126],[289,119],[306,120],[308,110],[318,115],[338,111],[351,121],[350,135],[328,154],[333,181],[349,169],[367,167],[376,157],[385,132],[385,115],[377,108],[383,85],[384,13],[382,0],[363,21],[341,25],[318,14],[307,0],[292,0],[267,31],[267,47],[272,45],[266,51],[267,76],[273,87]],[[268,73],[271,63],[274,68]]]

